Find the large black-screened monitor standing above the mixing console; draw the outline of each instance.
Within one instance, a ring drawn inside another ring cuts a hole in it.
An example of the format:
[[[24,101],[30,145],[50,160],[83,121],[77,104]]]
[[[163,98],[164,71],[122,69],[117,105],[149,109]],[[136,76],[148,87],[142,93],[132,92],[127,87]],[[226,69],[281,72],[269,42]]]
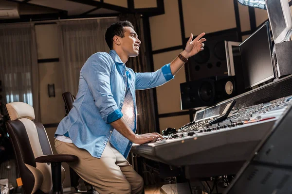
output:
[[[239,45],[245,88],[274,78],[269,22]]]

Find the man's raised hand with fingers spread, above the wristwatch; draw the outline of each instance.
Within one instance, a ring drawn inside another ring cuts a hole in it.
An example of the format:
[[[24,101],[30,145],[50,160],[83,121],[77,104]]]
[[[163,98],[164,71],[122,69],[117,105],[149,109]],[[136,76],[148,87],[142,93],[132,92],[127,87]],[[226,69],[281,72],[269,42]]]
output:
[[[193,34],[191,33],[190,38],[188,39],[186,46],[185,46],[185,53],[187,56],[184,56],[186,58],[189,58],[198,52],[202,51],[204,49],[204,43],[206,41],[205,38],[201,38],[205,35],[205,32],[198,35],[193,41]]]

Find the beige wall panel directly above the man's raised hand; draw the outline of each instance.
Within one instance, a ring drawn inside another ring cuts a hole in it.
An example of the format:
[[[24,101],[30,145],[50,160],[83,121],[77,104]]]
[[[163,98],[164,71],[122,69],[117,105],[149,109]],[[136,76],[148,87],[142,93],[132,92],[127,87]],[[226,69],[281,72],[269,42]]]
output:
[[[185,37],[236,28],[233,0],[182,0]]]

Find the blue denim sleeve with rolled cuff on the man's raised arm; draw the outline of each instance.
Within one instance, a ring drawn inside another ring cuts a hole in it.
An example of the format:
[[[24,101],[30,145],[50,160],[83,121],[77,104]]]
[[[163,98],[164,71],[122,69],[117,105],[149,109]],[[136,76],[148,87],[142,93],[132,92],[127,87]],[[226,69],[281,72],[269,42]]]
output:
[[[171,73],[170,64],[164,65],[152,73],[135,73],[136,90],[144,90],[163,85],[174,78]]]

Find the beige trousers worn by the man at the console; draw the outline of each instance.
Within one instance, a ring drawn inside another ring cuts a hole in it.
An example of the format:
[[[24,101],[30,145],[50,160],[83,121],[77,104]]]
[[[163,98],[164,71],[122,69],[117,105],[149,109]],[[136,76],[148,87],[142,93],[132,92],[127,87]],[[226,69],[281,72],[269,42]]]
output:
[[[125,157],[110,143],[101,159],[92,157],[85,149],[55,139],[58,154],[73,154],[78,162],[68,163],[99,194],[142,194],[143,178],[132,168]]]

